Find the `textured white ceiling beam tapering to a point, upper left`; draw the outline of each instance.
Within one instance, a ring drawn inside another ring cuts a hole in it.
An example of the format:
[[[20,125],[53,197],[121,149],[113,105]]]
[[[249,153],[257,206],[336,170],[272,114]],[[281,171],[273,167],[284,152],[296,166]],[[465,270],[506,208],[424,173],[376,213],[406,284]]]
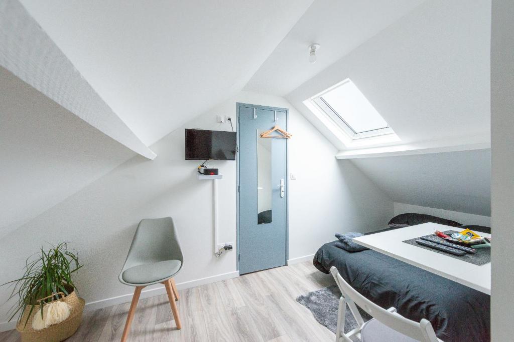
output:
[[[0,65],[125,147],[149,159],[157,156],[17,0],[0,2]]]

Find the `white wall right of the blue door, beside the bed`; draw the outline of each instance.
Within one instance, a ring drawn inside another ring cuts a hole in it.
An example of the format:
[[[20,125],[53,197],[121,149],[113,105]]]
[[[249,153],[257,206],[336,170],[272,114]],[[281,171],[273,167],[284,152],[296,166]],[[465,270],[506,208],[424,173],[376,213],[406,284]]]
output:
[[[270,98],[273,98],[270,96]],[[393,216],[393,202],[286,100],[289,108],[289,260],[310,256],[336,232],[382,229]]]

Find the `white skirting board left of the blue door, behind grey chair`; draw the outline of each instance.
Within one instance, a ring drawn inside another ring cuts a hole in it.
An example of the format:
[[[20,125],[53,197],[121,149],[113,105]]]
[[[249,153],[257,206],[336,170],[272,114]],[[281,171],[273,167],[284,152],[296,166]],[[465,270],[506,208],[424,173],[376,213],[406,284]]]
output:
[[[215,283],[216,281],[231,279],[231,278],[235,278],[238,276],[239,276],[239,271],[213,275],[213,276],[206,277],[206,278],[200,278],[200,279],[185,281],[183,283],[177,283],[177,289],[178,290],[189,289],[192,287]],[[143,291],[141,291],[141,296],[139,297],[139,299],[154,297],[154,296],[158,296],[158,295],[165,294],[165,293],[166,293],[166,289],[164,289],[164,286],[161,286],[158,288],[153,288],[153,289],[148,289],[148,290],[143,290]],[[97,309],[110,307],[113,305],[128,303],[129,301],[132,300],[133,294],[134,293],[128,293],[128,294],[123,294],[123,295],[117,296],[117,297],[106,298],[106,299],[101,299],[101,300],[97,300],[97,301],[91,301],[91,303],[86,303],[84,310],[85,311],[97,310]],[[10,322],[0,323],[0,332],[12,330],[15,328],[16,328],[15,320],[10,321]]]

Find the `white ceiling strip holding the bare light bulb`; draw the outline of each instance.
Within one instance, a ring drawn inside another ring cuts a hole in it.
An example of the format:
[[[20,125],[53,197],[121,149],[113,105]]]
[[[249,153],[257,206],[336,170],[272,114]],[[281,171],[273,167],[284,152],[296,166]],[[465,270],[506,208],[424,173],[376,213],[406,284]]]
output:
[[[424,0],[317,0],[253,75],[245,90],[284,96]],[[315,64],[308,46],[321,45]],[[314,95],[314,94],[313,94]]]

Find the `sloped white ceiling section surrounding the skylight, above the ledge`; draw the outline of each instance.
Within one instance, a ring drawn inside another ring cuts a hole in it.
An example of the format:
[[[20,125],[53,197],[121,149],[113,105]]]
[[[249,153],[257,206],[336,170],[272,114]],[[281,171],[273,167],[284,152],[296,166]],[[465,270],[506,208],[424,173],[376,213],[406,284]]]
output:
[[[397,145],[490,144],[490,27],[489,0],[426,1],[286,98],[342,150],[302,102],[348,77]]]

